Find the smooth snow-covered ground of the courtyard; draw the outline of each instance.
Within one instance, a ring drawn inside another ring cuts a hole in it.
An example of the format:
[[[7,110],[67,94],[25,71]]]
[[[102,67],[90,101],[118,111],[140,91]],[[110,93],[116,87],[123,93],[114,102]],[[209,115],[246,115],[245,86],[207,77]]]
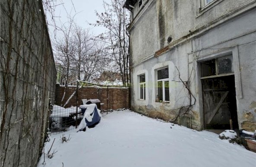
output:
[[[172,128],[170,128],[170,126]],[[212,132],[198,132],[160,122],[138,113],[114,111],[86,132],[65,132],[70,141],[51,135],[38,167],[255,167],[256,153],[221,140]],[[51,151],[51,152],[52,152]]]

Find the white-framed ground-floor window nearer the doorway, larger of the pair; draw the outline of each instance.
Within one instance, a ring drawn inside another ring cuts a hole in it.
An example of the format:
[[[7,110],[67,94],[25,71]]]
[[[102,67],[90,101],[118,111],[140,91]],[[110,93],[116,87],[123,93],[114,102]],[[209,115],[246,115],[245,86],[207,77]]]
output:
[[[157,101],[169,102],[169,72],[168,68],[157,70]]]

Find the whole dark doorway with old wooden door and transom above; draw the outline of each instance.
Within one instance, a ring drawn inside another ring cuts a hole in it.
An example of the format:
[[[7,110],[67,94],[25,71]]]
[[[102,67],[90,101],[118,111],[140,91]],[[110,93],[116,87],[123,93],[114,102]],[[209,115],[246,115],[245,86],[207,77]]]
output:
[[[201,62],[205,129],[238,129],[233,57]]]

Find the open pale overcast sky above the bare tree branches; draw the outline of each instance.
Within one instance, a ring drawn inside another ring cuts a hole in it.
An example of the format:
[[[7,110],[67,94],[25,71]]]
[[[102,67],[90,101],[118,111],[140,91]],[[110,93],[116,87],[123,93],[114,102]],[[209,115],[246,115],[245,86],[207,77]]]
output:
[[[104,0],[107,3],[110,3],[111,0]],[[72,4],[73,2],[73,4]],[[104,32],[104,28],[101,27],[93,27],[90,26],[88,23],[95,23],[97,20],[97,16],[95,11],[101,13],[104,11],[103,9],[103,0],[57,0],[57,4],[61,4],[56,6],[55,8],[55,16],[60,16],[60,18],[55,18],[57,24],[60,24],[59,19],[61,22],[67,21],[67,12],[71,14],[71,16],[75,16],[75,21],[78,25],[83,28],[90,28],[91,32],[94,35],[98,35]],[[67,12],[66,12],[67,10]],[[49,15],[47,14],[49,18]],[[54,28],[49,27],[50,35],[53,35]],[[57,32],[58,36],[58,32]]]

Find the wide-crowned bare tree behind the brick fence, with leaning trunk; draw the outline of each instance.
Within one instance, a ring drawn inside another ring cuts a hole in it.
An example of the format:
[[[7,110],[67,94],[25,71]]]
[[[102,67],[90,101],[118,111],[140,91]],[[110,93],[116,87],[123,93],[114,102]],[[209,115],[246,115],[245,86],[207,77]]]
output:
[[[62,24],[62,37],[54,41],[54,57],[59,63],[58,72],[65,85],[62,102],[67,86],[71,82],[95,79],[108,65],[103,44],[96,41],[89,29],[81,28],[74,22],[74,16]]]

